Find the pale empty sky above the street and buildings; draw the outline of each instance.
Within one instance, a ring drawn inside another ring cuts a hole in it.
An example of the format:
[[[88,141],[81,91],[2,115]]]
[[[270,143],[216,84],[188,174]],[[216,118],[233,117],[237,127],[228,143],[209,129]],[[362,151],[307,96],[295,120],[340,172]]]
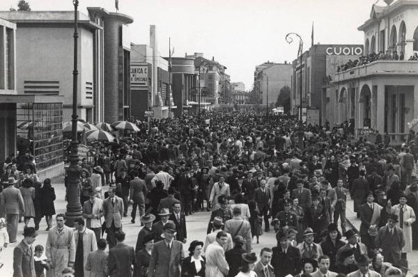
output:
[[[32,10],[73,10],[72,0],[26,0]],[[194,52],[215,57],[225,65],[231,81],[246,89],[254,82],[256,65],[284,63],[297,56],[298,41],[288,44],[287,33],[299,33],[304,51],[320,44],[363,44],[357,31],[369,19],[377,0],[119,0],[119,13],[133,17],[127,33],[135,44],[149,45],[149,26],[157,28],[161,56]],[[0,10],[16,7],[18,0],[1,0]],[[378,5],[385,6],[383,0]],[[102,7],[116,12],[115,0],[79,0],[79,10]]]

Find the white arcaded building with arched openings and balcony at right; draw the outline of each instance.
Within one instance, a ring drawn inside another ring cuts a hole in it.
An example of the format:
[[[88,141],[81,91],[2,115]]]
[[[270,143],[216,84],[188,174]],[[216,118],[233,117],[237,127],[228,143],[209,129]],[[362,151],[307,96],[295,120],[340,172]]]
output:
[[[359,26],[365,52],[412,56],[418,51],[418,2],[385,2],[373,5],[370,18]],[[408,132],[408,122],[418,118],[417,77],[417,61],[378,60],[336,72],[328,93],[335,122],[353,118],[357,131]]]

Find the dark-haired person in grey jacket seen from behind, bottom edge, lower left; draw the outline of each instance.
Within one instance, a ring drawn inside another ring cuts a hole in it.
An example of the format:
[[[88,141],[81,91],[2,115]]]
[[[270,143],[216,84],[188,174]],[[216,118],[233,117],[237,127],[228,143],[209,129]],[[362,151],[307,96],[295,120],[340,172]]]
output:
[[[98,241],[98,250],[95,252],[88,253],[86,261],[86,270],[90,271],[90,276],[95,277],[104,277],[107,276],[107,253],[104,251],[106,249],[107,242],[106,239],[99,239]],[[88,276],[84,276],[88,277]]]

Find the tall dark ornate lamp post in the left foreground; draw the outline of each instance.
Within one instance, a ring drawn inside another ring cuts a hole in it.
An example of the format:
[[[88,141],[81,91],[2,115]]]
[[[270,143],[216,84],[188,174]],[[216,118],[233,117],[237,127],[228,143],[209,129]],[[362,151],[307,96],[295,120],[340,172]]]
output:
[[[67,218],[66,225],[72,227],[74,219],[82,216],[82,205],[79,198],[79,182],[81,168],[78,165],[78,144],[77,141],[77,40],[78,40],[78,0],[72,0],[74,4],[74,70],[72,70],[72,141],[70,151],[70,166],[68,167],[68,187],[67,187],[67,211],[65,216]]]

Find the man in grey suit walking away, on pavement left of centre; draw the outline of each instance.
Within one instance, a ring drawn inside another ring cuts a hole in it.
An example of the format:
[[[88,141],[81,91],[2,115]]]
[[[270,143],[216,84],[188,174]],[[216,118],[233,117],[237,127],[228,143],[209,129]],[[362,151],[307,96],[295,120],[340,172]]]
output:
[[[145,181],[138,177],[138,171],[133,171],[132,175],[134,176],[134,180],[129,182],[129,201],[132,203],[131,222],[135,223],[135,217],[137,217],[137,207],[139,209],[139,216],[142,216],[145,213],[145,196],[148,189]]]

